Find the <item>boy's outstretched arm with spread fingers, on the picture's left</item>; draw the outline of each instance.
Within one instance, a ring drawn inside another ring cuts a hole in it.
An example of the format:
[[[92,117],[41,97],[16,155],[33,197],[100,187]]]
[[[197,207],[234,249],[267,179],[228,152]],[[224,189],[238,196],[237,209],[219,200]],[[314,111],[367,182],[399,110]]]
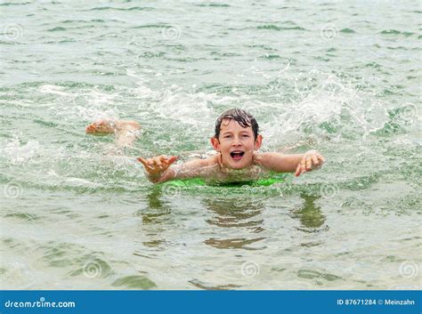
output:
[[[176,159],[177,157],[174,156],[158,156],[149,159],[138,158],[145,167],[148,179],[153,183],[198,177],[215,163],[215,157],[208,157],[206,159],[194,159],[181,165],[170,166]]]

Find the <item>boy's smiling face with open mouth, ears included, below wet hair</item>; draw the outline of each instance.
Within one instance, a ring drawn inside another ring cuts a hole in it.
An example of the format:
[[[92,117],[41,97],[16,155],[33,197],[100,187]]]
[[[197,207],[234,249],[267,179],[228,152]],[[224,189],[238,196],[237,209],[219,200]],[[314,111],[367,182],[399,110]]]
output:
[[[254,150],[261,147],[262,141],[261,135],[254,139],[252,127],[242,127],[232,119],[223,119],[219,138],[211,138],[214,149],[222,155],[223,165],[232,169],[251,165]]]

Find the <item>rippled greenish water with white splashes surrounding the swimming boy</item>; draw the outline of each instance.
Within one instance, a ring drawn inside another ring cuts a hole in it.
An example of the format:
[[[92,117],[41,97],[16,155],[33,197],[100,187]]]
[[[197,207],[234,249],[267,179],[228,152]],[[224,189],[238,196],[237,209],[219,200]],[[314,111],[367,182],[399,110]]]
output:
[[[1,287],[421,287],[418,1],[0,1]],[[154,186],[241,107],[268,187]],[[118,149],[85,135],[134,119]]]

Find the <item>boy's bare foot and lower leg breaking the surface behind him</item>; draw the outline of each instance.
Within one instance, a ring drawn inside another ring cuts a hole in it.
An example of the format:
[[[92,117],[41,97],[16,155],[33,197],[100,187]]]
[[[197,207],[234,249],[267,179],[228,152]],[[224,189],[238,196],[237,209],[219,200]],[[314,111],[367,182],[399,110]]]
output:
[[[88,134],[111,134],[116,135],[116,144],[119,147],[132,146],[139,136],[141,125],[136,121],[110,121],[98,120],[86,126]]]

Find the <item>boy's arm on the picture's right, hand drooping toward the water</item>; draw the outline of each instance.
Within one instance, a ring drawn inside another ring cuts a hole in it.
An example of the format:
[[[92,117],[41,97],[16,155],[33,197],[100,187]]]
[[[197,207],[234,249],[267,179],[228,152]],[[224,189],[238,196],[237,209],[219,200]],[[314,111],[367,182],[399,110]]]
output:
[[[277,173],[300,173],[312,171],[321,167],[325,159],[316,150],[309,150],[304,154],[284,155],[275,152],[256,153],[254,162],[263,165]]]

